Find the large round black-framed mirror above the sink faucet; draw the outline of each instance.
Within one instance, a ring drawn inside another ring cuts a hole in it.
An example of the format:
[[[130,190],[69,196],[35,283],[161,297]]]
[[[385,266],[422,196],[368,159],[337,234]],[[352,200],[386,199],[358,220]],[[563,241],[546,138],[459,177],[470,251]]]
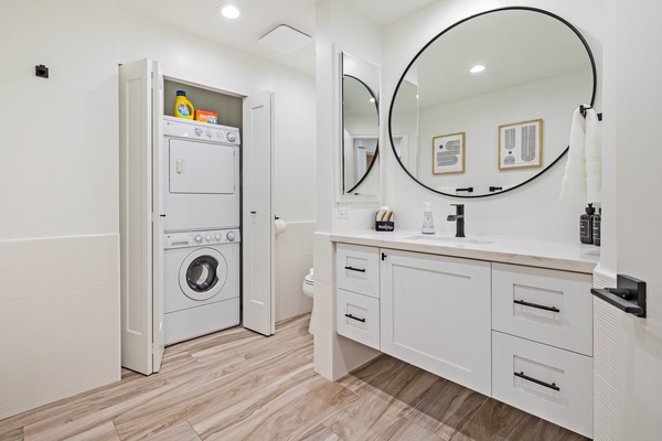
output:
[[[592,54],[567,21],[534,8],[483,12],[409,63],[391,104],[392,147],[428,190],[494,195],[563,157],[573,112],[595,92]]]

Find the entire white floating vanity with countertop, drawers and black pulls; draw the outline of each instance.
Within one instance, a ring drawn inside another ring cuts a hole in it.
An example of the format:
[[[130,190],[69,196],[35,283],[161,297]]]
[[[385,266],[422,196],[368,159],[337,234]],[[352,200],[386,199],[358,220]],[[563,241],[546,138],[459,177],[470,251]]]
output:
[[[595,247],[380,237],[337,241],[339,334],[592,437]]]

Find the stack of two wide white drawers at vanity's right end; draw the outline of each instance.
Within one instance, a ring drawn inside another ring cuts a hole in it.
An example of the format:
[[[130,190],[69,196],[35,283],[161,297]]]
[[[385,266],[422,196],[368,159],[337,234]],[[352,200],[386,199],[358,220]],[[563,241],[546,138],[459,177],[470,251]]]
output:
[[[592,437],[589,275],[492,265],[492,397]]]

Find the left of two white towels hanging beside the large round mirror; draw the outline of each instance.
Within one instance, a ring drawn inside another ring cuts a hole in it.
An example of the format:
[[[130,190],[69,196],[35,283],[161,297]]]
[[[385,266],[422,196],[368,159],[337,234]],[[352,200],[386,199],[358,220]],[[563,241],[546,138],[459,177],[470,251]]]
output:
[[[560,184],[560,198],[586,202],[586,119],[579,108],[573,114],[570,147],[565,175]]]

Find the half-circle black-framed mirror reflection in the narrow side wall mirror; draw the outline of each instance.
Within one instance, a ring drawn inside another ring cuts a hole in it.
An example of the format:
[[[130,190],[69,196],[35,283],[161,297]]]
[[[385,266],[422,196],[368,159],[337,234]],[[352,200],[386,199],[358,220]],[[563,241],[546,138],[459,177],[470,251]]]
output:
[[[354,193],[378,153],[380,115],[375,94],[352,75],[342,77],[343,193]]]

